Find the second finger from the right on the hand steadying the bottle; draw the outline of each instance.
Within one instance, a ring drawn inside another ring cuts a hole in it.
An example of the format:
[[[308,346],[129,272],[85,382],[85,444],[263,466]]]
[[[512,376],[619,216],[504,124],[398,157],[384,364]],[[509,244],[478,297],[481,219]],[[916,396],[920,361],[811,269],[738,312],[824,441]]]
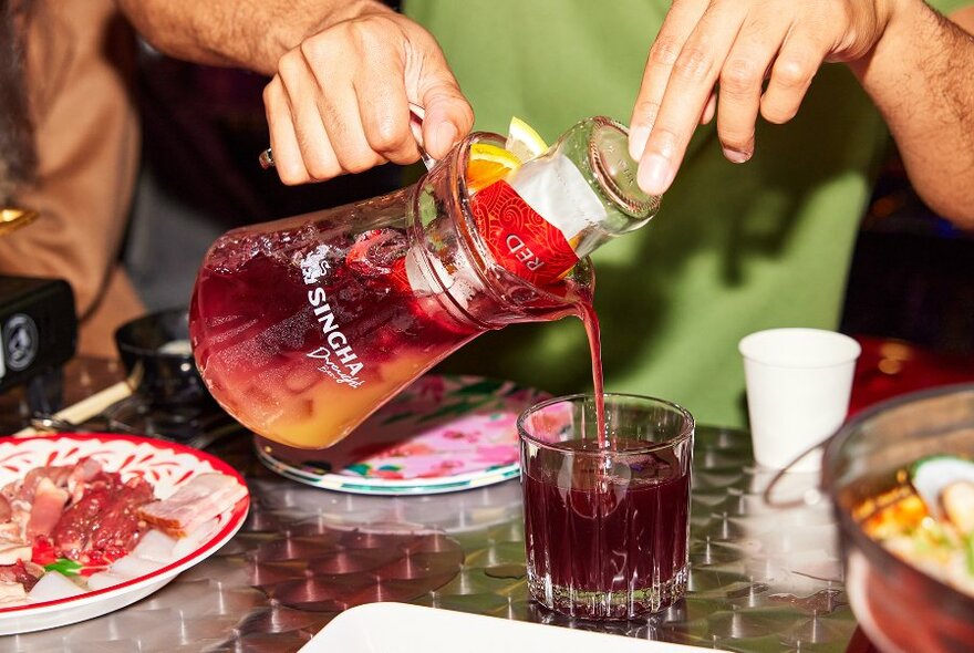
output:
[[[784,15],[748,18],[727,54],[721,70],[717,136],[731,162],[744,163],[754,155],[765,75],[789,25],[790,19]]]

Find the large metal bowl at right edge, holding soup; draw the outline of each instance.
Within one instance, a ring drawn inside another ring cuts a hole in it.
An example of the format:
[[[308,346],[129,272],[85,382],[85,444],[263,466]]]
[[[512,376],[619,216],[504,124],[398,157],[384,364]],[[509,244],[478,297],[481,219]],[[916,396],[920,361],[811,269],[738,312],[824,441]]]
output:
[[[974,598],[894,557],[853,518],[931,454],[974,457],[974,384],[912,393],[846,424],[827,444],[822,484],[835,506],[856,618],[885,653],[974,650]]]

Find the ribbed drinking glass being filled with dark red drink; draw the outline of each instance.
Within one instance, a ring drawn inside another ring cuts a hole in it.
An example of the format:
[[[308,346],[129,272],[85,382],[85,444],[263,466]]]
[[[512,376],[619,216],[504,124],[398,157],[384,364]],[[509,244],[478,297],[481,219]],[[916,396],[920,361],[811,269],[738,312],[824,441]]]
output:
[[[693,416],[659,398],[556,397],[518,419],[531,597],[631,619],[686,592]]]

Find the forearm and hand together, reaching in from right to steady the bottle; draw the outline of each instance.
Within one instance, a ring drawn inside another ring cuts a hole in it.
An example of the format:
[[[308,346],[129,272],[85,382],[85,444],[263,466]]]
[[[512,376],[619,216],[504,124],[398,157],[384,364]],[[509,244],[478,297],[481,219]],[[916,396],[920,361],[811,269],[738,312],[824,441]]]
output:
[[[923,198],[974,227],[974,40],[922,0],[674,0],[633,110],[640,185],[669,188],[698,116],[748,160],[758,114],[791,120],[826,61],[858,74]]]

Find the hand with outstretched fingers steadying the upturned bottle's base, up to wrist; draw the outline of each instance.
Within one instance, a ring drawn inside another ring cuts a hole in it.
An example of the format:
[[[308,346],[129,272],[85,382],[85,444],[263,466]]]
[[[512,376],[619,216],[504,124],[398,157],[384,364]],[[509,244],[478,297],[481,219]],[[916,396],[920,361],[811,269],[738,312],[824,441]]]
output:
[[[631,121],[640,186],[654,195],[670,187],[715,100],[724,155],[748,160],[758,113],[770,123],[791,120],[822,62],[868,55],[897,2],[674,0],[650,50]]]

